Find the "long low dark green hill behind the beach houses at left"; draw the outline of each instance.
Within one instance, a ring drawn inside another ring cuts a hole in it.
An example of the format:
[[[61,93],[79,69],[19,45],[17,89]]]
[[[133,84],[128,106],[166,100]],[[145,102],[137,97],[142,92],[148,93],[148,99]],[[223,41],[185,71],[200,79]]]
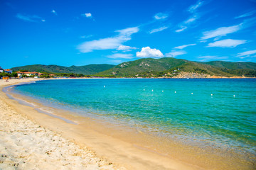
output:
[[[64,67],[58,65],[27,65],[23,67],[11,68],[14,72],[19,70],[28,70],[28,72],[48,72],[48,73],[75,73],[75,74],[96,74],[98,72],[103,72],[107,69],[111,69],[115,65],[112,64],[90,64],[85,66],[71,66]]]

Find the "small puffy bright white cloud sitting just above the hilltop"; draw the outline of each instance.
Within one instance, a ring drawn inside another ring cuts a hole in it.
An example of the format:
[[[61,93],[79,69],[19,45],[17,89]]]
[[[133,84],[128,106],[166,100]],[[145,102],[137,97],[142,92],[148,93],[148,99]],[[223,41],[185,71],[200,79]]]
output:
[[[136,52],[137,57],[146,58],[146,57],[164,57],[163,53],[156,48],[142,47],[141,52]]]

